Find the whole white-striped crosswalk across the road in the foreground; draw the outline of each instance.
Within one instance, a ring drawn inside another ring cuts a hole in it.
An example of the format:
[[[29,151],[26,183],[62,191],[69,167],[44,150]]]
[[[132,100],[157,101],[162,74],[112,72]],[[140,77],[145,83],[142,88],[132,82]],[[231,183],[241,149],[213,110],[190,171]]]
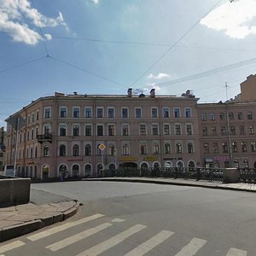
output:
[[[101,221],[103,219],[102,217],[104,217],[103,214],[97,213],[86,218],[81,218],[77,221],[61,224],[54,228],[49,228],[48,230],[38,232],[31,236],[26,236],[24,241],[17,240],[9,242],[3,246],[0,246],[0,256],[7,256],[5,255],[6,253],[9,253],[17,248],[20,250],[21,247],[29,246],[32,242],[44,241],[44,239],[48,237],[56,236],[56,234],[61,233],[61,231],[71,229],[75,226],[83,225],[84,229],[84,225],[86,226],[89,223],[90,225],[85,227],[85,229],[81,232],[77,232],[72,236],[67,233],[66,238],[61,238],[59,241],[54,239],[53,241],[55,242],[52,241],[48,245],[44,244],[44,249],[51,252],[52,254],[50,255],[55,255],[55,253],[62,249],[75,246],[77,243],[79,243],[79,241],[86,241],[86,239],[90,238],[90,236],[98,236],[106,230],[108,230],[108,234],[110,234],[109,231],[113,230],[114,235],[110,235],[111,237],[106,236],[105,240],[99,240],[97,244],[91,247],[85,247],[84,251],[74,253],[73,256],[96,256],[99,254],[104,255],[104,253],[108,254],[108,250],[114,250],[119,245],[124,247],[126,244],[125,241],[131,237],[135,237],[133,239],[135,242],[129,244],[130,251],[127,252],[127,249],[126,252],[123,253],[124,256],[142,256],[146,253],[148,253],[147,255],[160,255],[156,253],[158,247],[160,247],[165,241],[168,241],[168,244],[166,243],[164,247],[165,250],[168,250],[168,245],[172,243],[172,236],[175,235],[175,232],[172,230],[154,230],[153,233],[151,230],[149,236],[148,230],[150,230],[150,226],[144,224],[134,224],[131,226],[122,225],[122,227],[120,227],[120,224],[125,223],[125,219],[114,218],[112,220],[108,219],[108,222],[103,222]],[[144,233],[147,234],[147,238],[143,239],[142,234]],[[139,240],[136,239],[137,236],[140,237]],[[177,252],[175,255],[173,255],[171,250],[166,253],[173,256],[193,256],[200,252],[203,248],[207,247],[207,243],[207,240],[198,237],[191,237],[190,241],[187,241],[187,243],[181,247],[179,252]],[[121,254],[116,253],[116,255]],[[230,247],[226,248],[226,254],[223,256],[247,256],[247,251],[236,247]]]

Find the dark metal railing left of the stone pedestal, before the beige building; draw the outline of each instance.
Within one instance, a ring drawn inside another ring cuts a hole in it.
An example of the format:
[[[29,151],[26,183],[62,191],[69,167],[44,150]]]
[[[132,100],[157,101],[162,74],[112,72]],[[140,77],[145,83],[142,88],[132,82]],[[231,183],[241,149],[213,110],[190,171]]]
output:
[[[173,177],[223,182],[223,170],[188,167],[122,168],[103,170],[101,177]]]

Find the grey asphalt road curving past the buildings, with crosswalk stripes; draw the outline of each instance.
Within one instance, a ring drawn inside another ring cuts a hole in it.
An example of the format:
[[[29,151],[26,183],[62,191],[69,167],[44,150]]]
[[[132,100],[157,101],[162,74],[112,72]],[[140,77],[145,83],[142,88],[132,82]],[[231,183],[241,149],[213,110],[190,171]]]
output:
[[[6,256],[256,255],[253,193],[90,181],[39,183],[32,189],[78,199],[84,206],[65,222],[72,227],[45,237],[38,230],[17,238],[13,241],[25,244]]]

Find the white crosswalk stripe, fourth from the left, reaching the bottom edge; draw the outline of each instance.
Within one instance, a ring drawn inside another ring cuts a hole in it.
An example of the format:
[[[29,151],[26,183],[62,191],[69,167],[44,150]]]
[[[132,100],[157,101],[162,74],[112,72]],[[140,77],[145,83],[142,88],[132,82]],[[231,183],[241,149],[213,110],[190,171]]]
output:
[[[119,244],[119,242],[124,241],[125,238],[128,238],[129,236],[132,236],[133,234],[145,228],[147,228],[147,226],[141,224],[134,225],[130,229],[125,230],[118,235],[109,238],[106,241],[102,241],[94,247],[90,247],[88,250],[84,251],[83,253],[79,253],[77,256],[96,256],[100,253],[107,251],[109,248]]]

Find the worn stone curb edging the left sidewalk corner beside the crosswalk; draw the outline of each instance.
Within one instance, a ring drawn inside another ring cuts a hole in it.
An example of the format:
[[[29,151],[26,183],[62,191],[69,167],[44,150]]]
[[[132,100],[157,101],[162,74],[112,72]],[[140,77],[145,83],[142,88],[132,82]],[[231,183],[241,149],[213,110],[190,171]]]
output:
[[[79,210],[79,201],[75,200],[75,206],[64,212],[56,212],[55,215],[45,216],[44,218],[35,219],[22,224],[16,224],[0,229],[0,242],[7,241],[17,236],[23,236],[32,231],[39,230],[45,226],[55,224],[72,217]]]

